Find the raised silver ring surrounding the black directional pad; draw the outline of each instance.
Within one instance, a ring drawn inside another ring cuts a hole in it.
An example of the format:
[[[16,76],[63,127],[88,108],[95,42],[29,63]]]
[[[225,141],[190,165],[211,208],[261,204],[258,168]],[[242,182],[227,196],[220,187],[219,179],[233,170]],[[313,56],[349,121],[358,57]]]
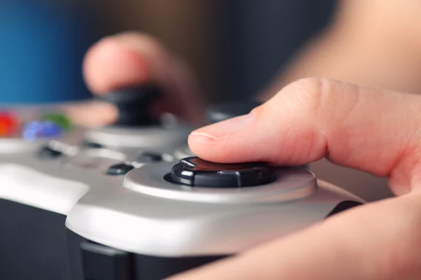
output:
[[[298,200],[316,191],[316,177],[305,169],[279,169],[276,181],[248,188],[200,188],[163,180],[172,165],[145,166],[129,172],[123,186],[145,195],[191,202],[250,204]]]

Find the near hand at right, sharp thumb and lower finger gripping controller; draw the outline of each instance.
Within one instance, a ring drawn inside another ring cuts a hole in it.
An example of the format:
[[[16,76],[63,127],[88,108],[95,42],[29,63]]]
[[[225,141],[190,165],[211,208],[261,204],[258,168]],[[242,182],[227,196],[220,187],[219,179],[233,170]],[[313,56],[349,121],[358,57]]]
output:
[[[172,279],[421,279],[420,108],[420,95],[307,78],[246,116],[193,132],[189,146],[206,160],[327,157],[387,176],[397,196]]]

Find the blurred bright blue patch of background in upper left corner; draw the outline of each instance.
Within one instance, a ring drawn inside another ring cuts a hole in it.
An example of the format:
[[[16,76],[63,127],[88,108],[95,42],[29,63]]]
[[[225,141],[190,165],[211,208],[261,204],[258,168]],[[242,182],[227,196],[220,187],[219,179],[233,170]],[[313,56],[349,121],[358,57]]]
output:
[[[60,4],[0,4],[0,103],[49,103],[91,97],[83,55],[94,38],[82,13]]]

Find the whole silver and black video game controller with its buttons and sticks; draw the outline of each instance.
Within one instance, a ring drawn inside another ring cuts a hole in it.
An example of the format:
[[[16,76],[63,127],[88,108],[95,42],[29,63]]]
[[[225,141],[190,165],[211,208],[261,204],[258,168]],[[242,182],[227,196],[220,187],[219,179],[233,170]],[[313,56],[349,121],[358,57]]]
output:
[[[145,113],[157,97],[107,95],[119,120],[95,130],[49,106],[0,116],[0,279],[163,279],[364,203],[305,167],[197,158],[194,127]],[[214,107],[208,122],[253,106]]]

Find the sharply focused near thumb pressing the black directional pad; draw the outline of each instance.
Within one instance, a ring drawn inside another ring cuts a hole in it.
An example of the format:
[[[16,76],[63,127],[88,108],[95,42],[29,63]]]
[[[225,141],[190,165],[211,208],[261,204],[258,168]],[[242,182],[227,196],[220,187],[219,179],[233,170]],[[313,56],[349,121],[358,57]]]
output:
[[[421,96],[308,78],[284,87],[250,114],[189,136],[201,158],[338,165],[391,176],[397,193],[420,181]]]

